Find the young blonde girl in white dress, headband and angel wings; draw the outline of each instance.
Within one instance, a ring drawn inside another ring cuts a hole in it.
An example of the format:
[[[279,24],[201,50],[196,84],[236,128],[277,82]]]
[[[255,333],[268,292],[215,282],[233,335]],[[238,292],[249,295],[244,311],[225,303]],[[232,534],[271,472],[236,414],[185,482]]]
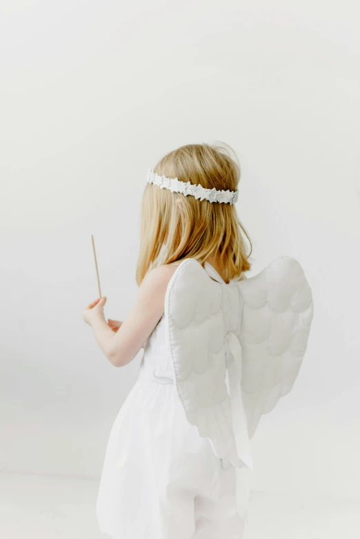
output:
[[[226,146],[166,154],[143,194],[134,307],[122,323],[106,322],[106,298],[83,312],[115,367],[143,348],[97,498],[112,539],[243,537],[249,440],[294,383],[312,298],[290,257],[246,279],[239,177]]]

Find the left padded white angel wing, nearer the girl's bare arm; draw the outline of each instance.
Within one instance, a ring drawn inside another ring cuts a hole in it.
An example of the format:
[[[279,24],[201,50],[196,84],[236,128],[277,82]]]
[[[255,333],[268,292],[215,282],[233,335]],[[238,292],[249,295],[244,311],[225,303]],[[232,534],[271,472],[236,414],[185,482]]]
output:
[[[238,297],[236,289],[233,293]],[[174,366],[174,383],[189,423],[208,437],[219,458],[237,467],[230,398],[226,385],[227,321],[223,287],[194,258],[174,272],[165,298],[166,339]],[[228,307],[232,305],[227,302]],[[239,322],[237,305],[231,310]]]

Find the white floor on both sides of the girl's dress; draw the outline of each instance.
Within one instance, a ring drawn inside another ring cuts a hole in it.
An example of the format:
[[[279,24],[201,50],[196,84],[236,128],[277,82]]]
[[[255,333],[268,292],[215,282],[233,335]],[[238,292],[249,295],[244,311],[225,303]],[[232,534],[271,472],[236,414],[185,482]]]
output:
[[[97,486],[64,476],[0,475],[1,538],[100,539]],[[252,491],[244,539],[358,539],[359,509],[360,500]]]

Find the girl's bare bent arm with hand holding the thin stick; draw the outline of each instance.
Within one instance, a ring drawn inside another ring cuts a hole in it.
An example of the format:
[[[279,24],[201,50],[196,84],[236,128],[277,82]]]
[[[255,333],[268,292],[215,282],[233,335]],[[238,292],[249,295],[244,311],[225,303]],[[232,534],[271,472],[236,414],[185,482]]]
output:
[[[130,363],[159,322],[164,312],[166,289],[175,270],[174,265],[162,265],[146,275],[134,307],[115,334],[101,313],[92,318],[97,343],[115,367]]]

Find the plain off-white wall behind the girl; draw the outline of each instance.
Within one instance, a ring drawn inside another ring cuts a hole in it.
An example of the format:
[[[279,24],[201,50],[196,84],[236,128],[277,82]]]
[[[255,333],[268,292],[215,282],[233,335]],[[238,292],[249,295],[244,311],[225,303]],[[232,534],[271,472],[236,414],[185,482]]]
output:
[[[123,320],[148,168],[224,141],[248,276],[294,256],[314,296],[297,382],[252,442],[252,490],[359,502],[357,2],[24,0],[0,15],[3,474],[99,479],[142,351],[112,367],[82,320],[91,234],[106,316]]]

